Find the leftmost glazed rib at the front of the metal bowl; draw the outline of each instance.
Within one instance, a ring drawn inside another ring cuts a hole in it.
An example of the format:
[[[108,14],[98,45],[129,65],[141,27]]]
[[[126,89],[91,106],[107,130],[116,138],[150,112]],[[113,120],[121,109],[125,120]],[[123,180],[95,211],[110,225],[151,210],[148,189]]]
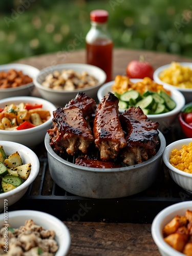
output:
[[[69,155],[80,150],[86,154],[94,137],[84,119],[82,111],[76,106],[69,109],[58,108],[53,112],[53,129],[48,130],[50,145],[54,151],[63,153],[64,148]]]

